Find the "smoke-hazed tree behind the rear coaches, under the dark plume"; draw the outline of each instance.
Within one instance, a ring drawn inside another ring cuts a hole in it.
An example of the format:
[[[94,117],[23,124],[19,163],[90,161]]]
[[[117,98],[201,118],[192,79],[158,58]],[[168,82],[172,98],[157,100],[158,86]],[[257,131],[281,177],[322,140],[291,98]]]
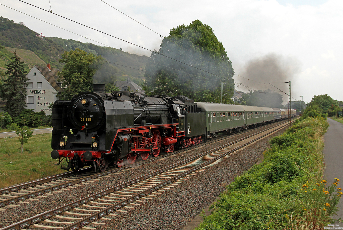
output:
[[[267,90],[249,90],[247,94],[243,94],[242,98],[246,101],[248,106],[261,106],[261,107],[282,107],[282,96],[278,93]]]

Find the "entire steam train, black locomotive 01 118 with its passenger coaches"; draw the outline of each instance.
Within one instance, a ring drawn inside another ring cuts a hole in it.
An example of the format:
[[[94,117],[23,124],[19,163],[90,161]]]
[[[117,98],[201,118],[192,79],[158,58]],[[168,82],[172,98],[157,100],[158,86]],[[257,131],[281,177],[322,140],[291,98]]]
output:
[[[295,110],[289,111],[289,116],[295,115]],[[103,84],[94,84],[93,92],[55,101],[51,157],[59,159],[59,164],[67,161],[68,166],[61,169],[94,166],[103,172],[109,164],[132,164],[137,157],[157,157],[161,150],[170,153],[200,144],[218,132],[244,131],[282,116],[288,117],[288,111],[194,102],[182,96],[106,94]]]

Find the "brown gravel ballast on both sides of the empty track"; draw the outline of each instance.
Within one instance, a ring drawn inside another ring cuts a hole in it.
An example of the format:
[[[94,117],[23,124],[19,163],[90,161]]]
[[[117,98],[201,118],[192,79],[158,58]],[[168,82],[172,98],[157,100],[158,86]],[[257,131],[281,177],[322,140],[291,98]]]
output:
[[[248,134],[242,133],[239,136],[230,138],[229,141],[220,141],[194,148],[148,164],[123,170],[113,175],[92,180],[91,183],[86,185],[52,193],[39,198],[37,201],[22,203],[18,207],[6,207],[7,210],[0,211],[2,217],[0,227],[8,226],[42,211],[73,202],[82,196],[98,192],[100,188],[105,189],[139,175],[144,175],[151,172],[151,170],[167,167],[246,135]],[[212,203],[225,190],[225,186],[232,182],[237,175],[241,175],[262,158],[263,151],[269,147],[269,138],[264,138],[240,150],[237,154],[224,159],[220,164],[198,173],[175,188],[159,194],[154,199],[147,200],[128,213],[120,216],[106,216],[112,220],[104,221],[106,224],[96,226],[97,229],[182,229]]]

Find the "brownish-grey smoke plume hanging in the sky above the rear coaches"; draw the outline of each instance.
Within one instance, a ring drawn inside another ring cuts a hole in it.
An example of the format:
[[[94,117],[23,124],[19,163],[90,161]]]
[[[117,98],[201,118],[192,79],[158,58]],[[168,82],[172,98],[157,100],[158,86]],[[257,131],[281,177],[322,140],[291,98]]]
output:
[[[269,89],[271,92],[276,92],[281,89],[288,94],[288,84],[284,82],[292,82],[299,72],[300,62],[296,58],[269,53],[265,56],[249,60],[246,63],[244,71],[241,74],[238,74],[249,80],[237,76],[237,81],[248,86],[248,89],[250,90],[264,91]],[[279,89],[268,83],[272,83],[272,85]],[[239,88],[237,89],[240,90]],[[248,89],[244,90],[248,91]],[[283,96],[284,101],[288,101],[288,96],[283,92],[280,92],[280,94]],[[295,92],[292,91],[292,95],[294,95],[294,93]]]

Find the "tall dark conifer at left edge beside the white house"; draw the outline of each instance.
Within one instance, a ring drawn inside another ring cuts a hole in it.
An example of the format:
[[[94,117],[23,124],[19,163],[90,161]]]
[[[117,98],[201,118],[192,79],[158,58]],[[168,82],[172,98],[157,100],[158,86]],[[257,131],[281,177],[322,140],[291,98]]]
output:
[[[26,107],[26,87],[28,78],[27,72],[24,69],[24,62],[20,61],[16,51],[13,52],[12,61],[6,66],[7,79],[1,85],[0,97],[6,101],[4,111],[8,112],[12,117],[19,115]]]

